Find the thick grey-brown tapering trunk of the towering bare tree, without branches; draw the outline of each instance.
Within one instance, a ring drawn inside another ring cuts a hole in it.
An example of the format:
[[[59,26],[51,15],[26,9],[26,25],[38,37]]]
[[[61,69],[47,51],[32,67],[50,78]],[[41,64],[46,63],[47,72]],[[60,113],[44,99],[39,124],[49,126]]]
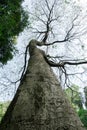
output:
[[[35,41],[30,42],[26,75],[0,130],[85,130]]]

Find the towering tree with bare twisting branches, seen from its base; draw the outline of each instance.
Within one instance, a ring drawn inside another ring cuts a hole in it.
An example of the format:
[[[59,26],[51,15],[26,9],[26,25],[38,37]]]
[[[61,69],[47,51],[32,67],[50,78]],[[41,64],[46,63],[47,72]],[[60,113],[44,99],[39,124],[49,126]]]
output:
[[[67,76],[66,65],[86,64],[87,61],[62,60],[54,63],[50,59],[52,58],[51,56],[38,48],[72,40],[74,36],[74,32],[71,33],[74,27],[73,22],[77,16],[73,18],[72,26],[66,32],[65,37],[62,40],[53,39],[54,41],[52,41],[51,39],[51,42],[49,41],[50,34],[55,37],[51,26],[53,25],[52,22],[59,20],[59,17],[53,14],[54,10],[58,9],[55,6],[57,4],[60,6],[60,4],[56,0],[52,1],[51,5],[48,0],[44,2],[45,6],[41,10],[44,13],[41,12],[42,18],[39,16],[38,19],[45,25],[44,29],[46,30],[41,31],[36,28],[37,32],[35,33],[40,34],[40,41],[31,40],[26,47],[25,65],[20,79],[20,86],[1,121],[0,130],[85,130],[74,109],[68,102],[51,67],[61,68]],[[28,49],[30,59],[27,71],[25,72]]]

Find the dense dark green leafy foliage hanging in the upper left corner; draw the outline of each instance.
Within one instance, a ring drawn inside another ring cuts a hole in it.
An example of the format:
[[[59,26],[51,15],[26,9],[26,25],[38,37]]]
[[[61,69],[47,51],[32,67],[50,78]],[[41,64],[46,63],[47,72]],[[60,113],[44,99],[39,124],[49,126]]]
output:
[[[0,0],[0,62],[12,59],[14,36],[27,26],[28,15],[21,4],[23,0]]]

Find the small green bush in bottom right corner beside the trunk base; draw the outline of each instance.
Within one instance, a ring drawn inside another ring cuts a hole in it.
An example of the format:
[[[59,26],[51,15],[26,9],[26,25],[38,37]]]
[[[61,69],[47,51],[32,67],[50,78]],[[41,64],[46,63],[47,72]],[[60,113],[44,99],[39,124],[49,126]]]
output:
[[[84,109],[80,109],[78,111],[78,115],[82,121],[82,123],[84,124],[84,126],[86,127],[87,129],[87,110],[84,110]]]

